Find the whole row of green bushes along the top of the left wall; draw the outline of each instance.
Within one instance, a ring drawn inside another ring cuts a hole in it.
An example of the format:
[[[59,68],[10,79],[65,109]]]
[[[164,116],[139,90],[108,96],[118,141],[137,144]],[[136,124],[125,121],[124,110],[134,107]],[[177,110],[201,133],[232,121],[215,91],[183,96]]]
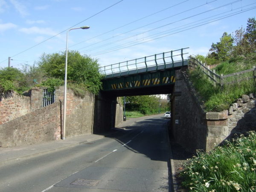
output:
[[[98,94],[102,87],[101,75],[98,72],[97,60],[78,51],[68,52],[67,86],[78,96],[85,91]],[[43,54],[32,66],[24,65],[23,69],[6,67],[0,69],[0,93],[14,90],[22,94],[32,87],[48,87],[53,91],[55,86],[64,84],[65,52]]]

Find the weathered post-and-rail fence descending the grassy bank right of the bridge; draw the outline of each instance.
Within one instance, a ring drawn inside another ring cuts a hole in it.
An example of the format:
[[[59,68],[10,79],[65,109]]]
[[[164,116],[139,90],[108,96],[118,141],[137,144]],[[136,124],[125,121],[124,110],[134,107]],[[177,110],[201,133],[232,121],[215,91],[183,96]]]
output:
[[[250,79],[256,79],[256,66],[244,70],[237,73],[232,73],[228,75],[218,75],[215,70],[210,70],[209,66],[202,63],[201,61],[198,61],[196,58],[190,58],[189,60],[189,67],[200,67],[200,69],[203,71],[203,73],[209,78],[210,81],[216,86],[216,84],[223,87],[227,84],[236,84],[240,81],[244,80],[250,80]]]

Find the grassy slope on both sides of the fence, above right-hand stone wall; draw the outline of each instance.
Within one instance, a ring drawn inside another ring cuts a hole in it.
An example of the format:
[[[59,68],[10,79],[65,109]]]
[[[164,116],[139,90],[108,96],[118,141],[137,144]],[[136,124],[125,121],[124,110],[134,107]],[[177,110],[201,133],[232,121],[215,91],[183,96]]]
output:
[[[226,61],[218,64],[214,69],[217,74],[231,74],[239,71],[247,70],[256,66],[256,53],[252,53],[250,57],[243,60]],[[248,73],[246,74],[248,75]],[[250,76],[253,72],[250,73]],[[201,95],[206,111],[223,111],[229,108],[230,104],[236,102],[236,99],[243,94],[256,93],[256,85],[253,79],[237,82],[232,85],[224,85],[224,87],[214,87],[212,83],[203,75],[201,70],[196,69],[189,72],[191,81],[195,89]],[[230,79],[230,81],[236,78]]]

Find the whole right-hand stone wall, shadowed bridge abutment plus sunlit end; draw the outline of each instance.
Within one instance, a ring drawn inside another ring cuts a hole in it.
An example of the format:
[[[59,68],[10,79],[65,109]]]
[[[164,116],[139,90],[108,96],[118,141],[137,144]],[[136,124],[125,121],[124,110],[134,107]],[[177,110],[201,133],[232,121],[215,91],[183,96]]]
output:
[[[206,113],[185,71],[175,71],[172,94],[170,132],[177,143],[192,153],[210,151],[234,134],[256,131],[255,94],[243,95],[229,110]]]

